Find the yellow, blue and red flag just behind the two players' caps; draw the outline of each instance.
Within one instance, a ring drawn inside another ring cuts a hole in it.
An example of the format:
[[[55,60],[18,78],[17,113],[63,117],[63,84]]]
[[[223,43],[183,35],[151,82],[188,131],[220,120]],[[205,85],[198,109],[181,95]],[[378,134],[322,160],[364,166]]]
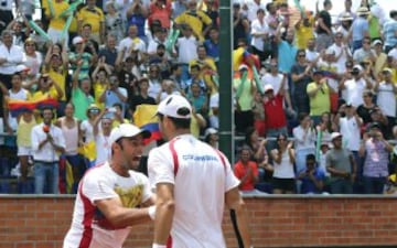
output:
[[[133,112],[133,123],[151,132],[151,137],[144,141],[146,143],[152,140],[161,140],[159,120],[155,116],[157,109],[157,105],[138,105]]]

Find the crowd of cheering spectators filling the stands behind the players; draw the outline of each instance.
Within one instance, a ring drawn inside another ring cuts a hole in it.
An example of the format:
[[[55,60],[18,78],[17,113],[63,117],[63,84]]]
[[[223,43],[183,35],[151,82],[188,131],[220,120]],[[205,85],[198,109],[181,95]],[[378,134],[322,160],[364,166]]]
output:
[[[330,0],[315,10],[233,0],[242,60],[224,82],[218,0],[86,0],[69,12],[77,1],[43,0],[34,20],[34,1],[17,1],[17,11],[1,2],[0,132],[17,138],[0,141],[18,148],[17,174],[33,176],[35,193],[58,192],[61,161],[72,165],[75,193],[88,166],[79,148],[94,141],[95,163],[106,161],[111,128],[169,95],[190,100],[192,132],[217,148],[219,84],[234,89],[235,134],[244,137],[235,161],[242,191],[382,194],[391,183],[396,10],[367,0],[354,10],[345,0],[331,17]],[[46,98],[56,109],[10,115],[10,100]]]

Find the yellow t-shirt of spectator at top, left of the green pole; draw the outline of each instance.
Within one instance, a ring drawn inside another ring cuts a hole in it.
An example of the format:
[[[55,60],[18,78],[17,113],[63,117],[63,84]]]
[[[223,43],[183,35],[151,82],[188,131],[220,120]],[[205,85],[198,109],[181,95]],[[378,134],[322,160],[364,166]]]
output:
[[[183,12],[181,15],[175,18],[176,24],[187,24],[192,28],[193,33],[197,34],[200,41],[204,41],[203,26],[210,25],[212,20],[203,11],[196,11],[195,14],[191,14],[189,11]]]

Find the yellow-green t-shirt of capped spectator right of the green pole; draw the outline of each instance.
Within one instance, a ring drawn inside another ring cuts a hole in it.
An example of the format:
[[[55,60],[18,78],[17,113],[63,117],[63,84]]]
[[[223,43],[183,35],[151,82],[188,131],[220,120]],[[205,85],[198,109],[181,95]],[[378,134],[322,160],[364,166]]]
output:
[[[316,87],[315,82],[310,83],[307,87],[307,93]],[[322,87],[323,91],[319,90],[315,96],[310,97],[310,116],[321,116],[323,112],[329,112],[331,110],[330,88],[326,84]]]

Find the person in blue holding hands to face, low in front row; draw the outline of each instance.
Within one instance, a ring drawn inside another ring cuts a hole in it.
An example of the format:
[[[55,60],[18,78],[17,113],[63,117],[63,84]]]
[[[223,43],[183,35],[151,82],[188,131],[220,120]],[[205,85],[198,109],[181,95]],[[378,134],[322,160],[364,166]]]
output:
[[[301,194],[323,193],[325,174],[316,166],[315,155],[308,154],[305,158],[307,169],[298,172],[298,180],[302,182]]]

